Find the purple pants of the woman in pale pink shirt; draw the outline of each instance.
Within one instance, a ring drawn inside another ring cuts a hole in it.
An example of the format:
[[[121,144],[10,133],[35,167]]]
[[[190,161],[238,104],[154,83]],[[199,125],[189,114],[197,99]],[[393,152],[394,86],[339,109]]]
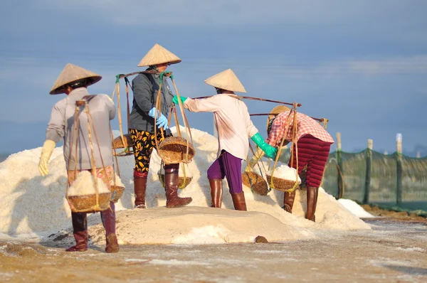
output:
[[[241,171],[242,159],[223,150],[218,159],[209,167],[208,178],[223,179],[226,177],[230,193],[241,193],[243,191]]]

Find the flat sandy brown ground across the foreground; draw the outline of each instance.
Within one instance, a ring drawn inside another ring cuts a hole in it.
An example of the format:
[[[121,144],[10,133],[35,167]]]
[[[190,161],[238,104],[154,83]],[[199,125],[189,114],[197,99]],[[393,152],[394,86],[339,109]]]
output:
[[[372,230],[317,240],[128,245],[64,252],[0,242],[1,282],[427,282],[427,225],[369,220]]]

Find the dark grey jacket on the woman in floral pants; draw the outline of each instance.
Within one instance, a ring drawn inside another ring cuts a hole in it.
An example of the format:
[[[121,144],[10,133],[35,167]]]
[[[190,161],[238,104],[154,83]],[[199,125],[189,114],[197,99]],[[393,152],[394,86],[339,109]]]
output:
[[[156,106],[157,92],[159,91],[159,75],[139,74],[132,80],[133,105],[130,112],[130,129],[154,134],[154,118],[149,117],[148,112]],[[167,77],[162,82],[162,109],[164,116],[168,117],[172,105],[172,90],[167,83]],[[170,134],[170,129],[165,134]]]

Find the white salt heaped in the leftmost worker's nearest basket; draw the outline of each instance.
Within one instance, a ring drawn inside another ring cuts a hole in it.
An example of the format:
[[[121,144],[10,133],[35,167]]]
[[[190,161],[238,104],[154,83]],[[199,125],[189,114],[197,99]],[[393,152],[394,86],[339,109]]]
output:
[[[98,193],[110,193],[110,189],[100,179],[96,178]],[[90,171],[82,171],[78,173],[77,178],[73,181],[73,185],[68,188],[68,196],[86,196],[96,193],[95,180]]]

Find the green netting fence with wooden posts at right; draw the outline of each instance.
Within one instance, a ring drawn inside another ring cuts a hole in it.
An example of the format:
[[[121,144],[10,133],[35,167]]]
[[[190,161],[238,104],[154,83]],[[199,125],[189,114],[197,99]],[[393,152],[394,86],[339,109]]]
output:
[[[280,161],[287,164],[289,158],[287,150]],[[427,156],[413,158],[371,149],[334,151],[327,161],[322,186],[335,198],[427,217]]]

